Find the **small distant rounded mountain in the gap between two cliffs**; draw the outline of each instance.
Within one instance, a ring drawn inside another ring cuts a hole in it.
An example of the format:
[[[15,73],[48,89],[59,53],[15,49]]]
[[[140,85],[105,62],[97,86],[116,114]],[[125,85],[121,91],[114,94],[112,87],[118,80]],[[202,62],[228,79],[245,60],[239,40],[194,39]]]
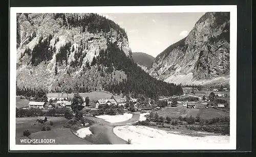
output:
[[[138,64],[144,71],[151,67],[154,62],[154,57],[145,53],[133,53],[133,60]]]

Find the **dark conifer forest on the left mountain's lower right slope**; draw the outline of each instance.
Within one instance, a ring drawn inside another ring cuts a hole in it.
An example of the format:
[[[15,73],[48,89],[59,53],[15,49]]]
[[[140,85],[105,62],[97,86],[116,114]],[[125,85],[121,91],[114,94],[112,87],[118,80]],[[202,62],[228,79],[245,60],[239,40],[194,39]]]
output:
[[[165,83],[159,81],[133,62],[132,59],[125,56],[122,49],[119,49],[116,43],[108,42],[108,48],[100,50],[99,56],[95,59],[97,64],[105,67],[114,67],[116,70],[122,70],[127,75],[127,79],[118,84],[109,83],[104,86],[106,91],[112,93],[134,93],[143,94],[147,97],[156,98],[158,96],[181,95],[183,90],[181,85]]]

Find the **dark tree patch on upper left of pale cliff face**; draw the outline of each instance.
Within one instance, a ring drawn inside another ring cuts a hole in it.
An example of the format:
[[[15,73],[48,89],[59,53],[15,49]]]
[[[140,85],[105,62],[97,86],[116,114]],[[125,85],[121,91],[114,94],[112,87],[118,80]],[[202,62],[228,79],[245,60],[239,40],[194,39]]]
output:
[[[52,35],[50,34],[43,40],[42,36],[39,38],[38,43],[32,50],[31,64],[37,66],[42,61],[50,61],[53,53],[56,51],[55,47],[50,45]]]

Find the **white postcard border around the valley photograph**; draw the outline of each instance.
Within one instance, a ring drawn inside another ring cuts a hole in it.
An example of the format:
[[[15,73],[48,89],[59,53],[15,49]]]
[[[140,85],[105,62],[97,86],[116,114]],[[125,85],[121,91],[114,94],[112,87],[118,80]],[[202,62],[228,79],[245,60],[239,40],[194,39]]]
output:
[[[181,13],[230,12],[230,140],[227,144],[207,145],[16,145],[16,13]],[[237,143],[237,6],[121,6],[121,7],[12,7],[10,8],[10,150],[226,150]]]

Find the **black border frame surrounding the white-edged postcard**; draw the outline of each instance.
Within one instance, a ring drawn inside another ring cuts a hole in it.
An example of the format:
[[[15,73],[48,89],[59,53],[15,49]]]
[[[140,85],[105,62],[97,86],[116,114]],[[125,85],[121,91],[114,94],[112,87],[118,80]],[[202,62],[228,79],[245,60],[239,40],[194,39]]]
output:
[[[180,1],[158,1],[157,3],[141,3],[141,2],[122,2],[122,1],[108,1],[108,2],[99,2],[99,1],[76,1],[76,0],[67,0],[67,1],[60,1],[60,0],[44,0],[44,1],[33,1],[33,0],[10,0],[9,6],[8,6],[8,15],[10,16],[10,8],[9,7],[65,7],[65,6],[159,6],[159,5],[237,5],[237,17],[238,17],[238,27],[237,27],[237,150],[203,150],[203,152],[223,152],[223,151],[238,151],[238,152],[250,152],[251,151],[251,0],[228,0],[228,1],[221,1],[221,0],[215,0],[215,1],[189,1],[189,0],[180,0]],[[8,17],[9,17],[8,16]],[[6,16],[1,15],[1,19],[3,19],[3,24],[5,23],[5,26],[7,23],[9,23],[9,19],[7,20]],[[5,21],[4,21],[5,20]],[[5,44],[9,43],[9,40],[7,41],[6,38],[9,37],[9,34],[6,31],[2,31],[1,35],[4,34],[6,37],[2,36],[1,44],[3,52],[6,52],[9,50],[9,46],[7,47]],[[7,27],[6,27],[7,28]],[[9,39],[9,38],[8,38]],[[9,52],[9,51],[8,51]],[[7,56],[7,53],[2,53],[3,57],[6,57],[5,61],[9,62],[9,53]],[[5,62],[2,62],[5,63]],[[8,66],[10,64],[7,63]],[[7,75],[8,77],[5,77],[6,83],[8,88],[8,93],[5,96],[8,97],[8,104],[9,104],[9,67],[4,64],[2,67],[8,68],[7,69]],[[2,68],[3,69],[3,68]],[[3,80],[3,75],[1,75],[1,80]],[[3,82],[3,81],[1,81]],[[2,136],[1,134],[1,150],[0,153],[9,150],[9,114],[7,116],[7,112],[9,113],[9,105],[4,106],[2,109],[4,113],[1,115],[5,120],[1,121],[2,126],[0,127],[0,133],[7,133],[8,136]],[[4,123],[4,125],[3,125]],[[4,127],[3,127],[4,126]],[[7,144],[7,145],[5,145]],[[7,147],[6,147],[7,146]],[[49,150],[50,152],[191,152],[191,150],[101,150],[101,151],[53,151]],[[29,151],[29,152],[49,152],[49,151]],[[200,151],[200,150],[196,150]],[[10,151],[10,152],[28,152],[28,151]],[[192,151],[195,152],[195,151]],[[109,154],[109,153],[108,153]],[[25,154],[24,154],[25,155]],[[88,155],[88,154],[87,154]],[[106,154],[104,154],[106,155]]]

